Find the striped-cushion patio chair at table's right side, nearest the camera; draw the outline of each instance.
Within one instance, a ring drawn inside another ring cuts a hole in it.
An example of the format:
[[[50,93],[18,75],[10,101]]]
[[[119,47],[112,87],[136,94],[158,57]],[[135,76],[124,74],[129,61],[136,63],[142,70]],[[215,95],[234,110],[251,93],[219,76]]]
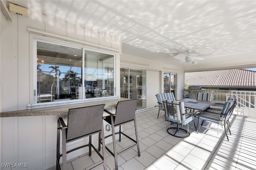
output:
[[[225,131],[226,137],[228,139],[226,125],[227,125],[228,131],[231,135],[229,119],[230,119],[235,107],[236,107],[236,100],[234,100],[234,102],[232,102],[232,101],[225,102],[225,104],[222,107],[220,112],[202,111],[198,118],[199,123],[200,123],[200,120],[202,119],[201,126],[204,124],[204,121],[217,123],[218,125],[224,125],[224,131]],[[218,133],[218,127],[217,127],[217,133]],[[228,141],[229,141],[229,139],[228,139]]]

